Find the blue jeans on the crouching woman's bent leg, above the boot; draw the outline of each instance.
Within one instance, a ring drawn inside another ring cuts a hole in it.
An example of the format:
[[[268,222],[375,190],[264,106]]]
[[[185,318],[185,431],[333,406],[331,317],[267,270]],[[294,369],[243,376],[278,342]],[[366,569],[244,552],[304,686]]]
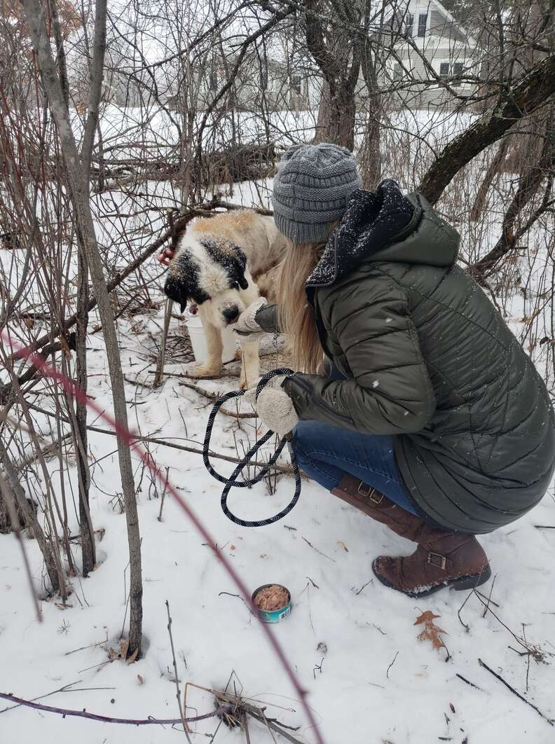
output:
[[[397,466],[393,437],[299,421],[291,445],[299,467],[327,490],[335,488],[348,473],[416,514]]]

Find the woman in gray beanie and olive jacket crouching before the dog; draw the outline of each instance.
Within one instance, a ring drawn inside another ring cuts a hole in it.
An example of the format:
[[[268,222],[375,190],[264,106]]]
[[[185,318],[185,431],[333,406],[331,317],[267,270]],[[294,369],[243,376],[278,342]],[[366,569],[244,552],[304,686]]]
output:
[[[392,181],[360,186],[341,147],[296,146],[280,162],[279,312],[260,301],[237,332],[278,319],[301,372],[265,388],[257,412],[278,434],[292,429],[310,478],[417,544],[373,561],[383,584],[411,597],[479,586],[491,571],[475,536],[519,519],[550,484],[554,411],[457,266],[455,229]]]

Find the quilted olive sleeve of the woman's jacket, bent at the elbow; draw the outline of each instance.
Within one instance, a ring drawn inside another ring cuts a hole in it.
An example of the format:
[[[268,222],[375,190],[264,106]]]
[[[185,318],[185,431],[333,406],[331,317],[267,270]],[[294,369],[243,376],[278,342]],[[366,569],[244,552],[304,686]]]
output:
[[[301,419],[366,434],[406,434],[426,426],[434,391],[403,290],[386,275],[318,290],[327,333],[353,379],[298,373],[284,389]]]

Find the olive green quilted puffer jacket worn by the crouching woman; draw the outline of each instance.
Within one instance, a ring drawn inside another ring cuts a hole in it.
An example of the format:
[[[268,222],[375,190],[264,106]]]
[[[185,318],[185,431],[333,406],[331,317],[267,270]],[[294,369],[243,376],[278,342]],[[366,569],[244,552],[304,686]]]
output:
[[[486,533],[542,498],[555,467],[545,384],[481,288],[459,236],[394,182],[358,190],[307,282],[321,344],[349,379],[284,384],[301,419],[394,434],[414,504]]]

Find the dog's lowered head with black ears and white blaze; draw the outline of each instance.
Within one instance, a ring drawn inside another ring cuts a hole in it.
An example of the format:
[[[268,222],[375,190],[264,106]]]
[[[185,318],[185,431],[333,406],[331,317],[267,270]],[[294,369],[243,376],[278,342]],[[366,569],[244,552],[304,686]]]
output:
[[[221,238],[184,235],[176,246],[164,292],[185,310],[187,301],[211,312],[214,325],[225,327],[245,310],[241,290],[248,288],[246,255]]]

